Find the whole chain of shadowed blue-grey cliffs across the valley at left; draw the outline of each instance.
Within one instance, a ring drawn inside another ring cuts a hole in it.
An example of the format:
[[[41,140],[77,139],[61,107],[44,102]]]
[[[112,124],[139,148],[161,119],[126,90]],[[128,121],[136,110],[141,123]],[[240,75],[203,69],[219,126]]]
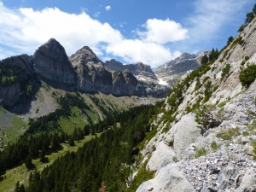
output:
[[[134,73],[139,71],[154,75],[150,66],[143,63],[129,65],[134,73],[129,69],[113,71],[87,46],[68,58],[65,49],[54,38],[40,46],[32,56],[13,56],[1,63],[20,69],[12,84],[0,84],[0,104],[8,108],[19,102],[29,102],[40,87],[38,79],[62,90],[101,91],[116,96],[164,96],[169,91],[148,87],[147,84],[138,85]]]

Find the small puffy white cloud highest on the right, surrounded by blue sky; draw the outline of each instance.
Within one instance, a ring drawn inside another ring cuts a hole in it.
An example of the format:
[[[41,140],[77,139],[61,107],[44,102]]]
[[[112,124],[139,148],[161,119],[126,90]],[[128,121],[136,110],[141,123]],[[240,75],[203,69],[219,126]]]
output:
[[[174,20],[148,19],[144,26],[147,31],[137,33],[147,42],[167,44],[188,38],[188,30]]]

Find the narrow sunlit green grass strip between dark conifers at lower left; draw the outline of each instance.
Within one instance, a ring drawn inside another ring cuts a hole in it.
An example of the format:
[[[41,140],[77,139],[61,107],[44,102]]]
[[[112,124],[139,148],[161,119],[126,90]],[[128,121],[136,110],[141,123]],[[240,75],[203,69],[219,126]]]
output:
[[[97,134],[97,137],[100,137],[101,134]],[[44,166],[49,166],[52,164],[56,159],[59,157],[67,154],[67,152],[76,152],[80,147],[84,145],[84,143],[89,142],[91,138],[95,136],[87,136],[84,137],[83,140],[80,140],[79,142],[75,142],[75,146],[69,146],[67,143],[62,144],[62,150],[55,152],[53,154],[46,155],[48,157],[49,162],[48,163],[41,163],[39,159],[32,160],[32,163],[36,166],[36,169],[40,172],[43,171]],[[26,166],[25,164],[22,164],[21,166],[17,166],[14,169],[11,169],[7,171],[3,175],[3,181],[0,182],[0,191],[13,191],[15,188],[15,183],[18,181],[21,183],[24,183],[26,185],[27,179],[29,177],[29,174],[33,171],[26,171]]]

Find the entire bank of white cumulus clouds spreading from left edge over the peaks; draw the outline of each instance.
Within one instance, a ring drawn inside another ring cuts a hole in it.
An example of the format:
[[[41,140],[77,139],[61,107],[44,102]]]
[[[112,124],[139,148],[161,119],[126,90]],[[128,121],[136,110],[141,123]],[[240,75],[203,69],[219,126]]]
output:
[[[32,55],[49,38],[58,40],[67,55],[88,45],[102,58],[118,56],[128,63],[143,61],[152,67],[180,54],[172,53],[164,44],[184,38],[186,30],[182,26],[172,20],[155,19],[148,20],[145,26],[146,31],[137,38],[127,39],[119,30],[92,19],[85,12],[75,15],[57,8],[8,9],[0,1],[0,59],[24,53]],[[173,31],[170,31],[171,26],[175,28]],[[164,32],[154,27],[161,27]],[[181,32],[181,35],[168,38],[167,32]]]

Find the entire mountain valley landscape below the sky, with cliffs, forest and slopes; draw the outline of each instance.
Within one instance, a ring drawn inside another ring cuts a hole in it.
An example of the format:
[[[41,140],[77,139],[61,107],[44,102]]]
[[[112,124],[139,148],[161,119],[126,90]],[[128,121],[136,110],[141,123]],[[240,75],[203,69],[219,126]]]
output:
[[[255,192],[254,15],[155,70],[54,38],[1,61],[0,191]]]

